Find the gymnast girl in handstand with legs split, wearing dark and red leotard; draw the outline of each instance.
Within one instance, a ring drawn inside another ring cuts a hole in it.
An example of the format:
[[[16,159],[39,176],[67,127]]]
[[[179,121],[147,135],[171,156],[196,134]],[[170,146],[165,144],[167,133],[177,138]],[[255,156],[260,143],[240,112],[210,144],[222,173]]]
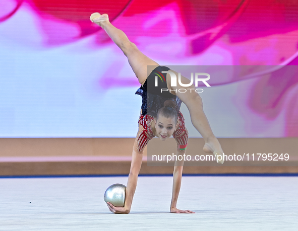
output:
[[[177,88],[181,89],[184,87],[170,86],[169,73],[163,72],[165,81],[162,81],[159,78],[155,79],[155,76],[162,74],[162,71],[172,71],[178,76],[177,72],[166,66],[160,66],[157,62],[144,55],[137,46],[128,39],[123,31],[115,28],[109,22],[107,14],[100,15],[99,13],[93,13],[90,16],[90,20],[105,30],[112,41],[120,47],[123,53],[127,56],[129,64],[141,84],[141,87],[136,92],[136,94],[142,96],[141,114],[138,121],[139,130],[133,147],[131,169],[126,188],[125,205],[124,207],[115,207],[107,202],[109,210],[113,213],[130,213],[137,187],[138,175],[142,165],[143,150],[148,141],[154,136],[157,136],[164,141],[173,135],[177,142],[177,156],[183,155],[186,152],[188,131],[185,127],[184,117],[180,112],[182,102],[186,104],[190,112],[192,124],[204,138],[205,145],[203,151],[213,153],[217,158],[219,155],[222,155],[223,150],[218,139],[214,136],[211,130],[207,117],[203,111],[202,99],[199,94],[195,91],[187,91],[184,93],[177,91]],[[150,73],[149,75],[147,74],[147,71]],[[189,83],[188,79],[183,76],[181,77],[182,82]],[[155,91],[154,88],[147,88],[147,86],[152,86],[156,80],[158,81],[159,89],[167,88],[170,92],[165,91],[161,94],[160,90]],[[195,89],[194,85],[191,87]],[[219,161],[219,163],[223,164],[223,161]],[[181,187],[182,171],[183,162],[180,164],[175,163],[170,212],[194,213],[191,210],[181,210],[176,208]]]

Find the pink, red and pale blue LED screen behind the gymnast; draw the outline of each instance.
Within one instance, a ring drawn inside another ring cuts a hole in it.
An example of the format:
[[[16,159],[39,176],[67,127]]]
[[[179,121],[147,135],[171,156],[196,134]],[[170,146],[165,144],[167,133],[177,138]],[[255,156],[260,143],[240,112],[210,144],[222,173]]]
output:
[[[140,84],[93,12],[161,65],[298,62],[296,1],[1,1],[0,137],[136,135]],[[201,94],[215,135],[298,136],[298,76],[242,77]]]

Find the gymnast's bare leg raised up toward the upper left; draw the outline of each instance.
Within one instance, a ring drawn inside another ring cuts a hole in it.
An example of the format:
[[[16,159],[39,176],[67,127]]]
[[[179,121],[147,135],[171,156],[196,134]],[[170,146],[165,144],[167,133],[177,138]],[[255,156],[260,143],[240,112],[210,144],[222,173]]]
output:
[[[90,16],[90,20],[104,29],[113,42],[123,51],[139,83],[143,85],[147,79],[147,66],[152,66],[148,70],[150,73],[156,66],[159,66],[158,63],[144,55],[122,30],[115,28],[109,22],[107,14],[100,15],[99,13],[93,13]]]

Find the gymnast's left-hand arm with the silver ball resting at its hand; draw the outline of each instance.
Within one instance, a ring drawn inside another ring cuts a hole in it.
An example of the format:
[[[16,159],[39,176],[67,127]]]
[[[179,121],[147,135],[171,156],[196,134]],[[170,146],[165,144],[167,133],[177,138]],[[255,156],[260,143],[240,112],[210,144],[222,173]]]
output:
[[[133,157],[132,157],[132,164],[130,169],[130,174],[128,177],[127,187],[126,187],[126,194],[125,194],[125,203],[124,207],[115,207],[111,203],[107,202],[107,205],[111,212],[113,213],[130,213],[131,206],[133,203],[134,194],[137,187],[138,176],[140,173],[140,169],[142,166],[143,160],[143,146],[140,150],[138,150],[138,138],[141,137],[141,133],[144,129],[141,125],[139,125],[139,131],[137,134],[137,138],[135,139],[134,148],[133,148]]]

